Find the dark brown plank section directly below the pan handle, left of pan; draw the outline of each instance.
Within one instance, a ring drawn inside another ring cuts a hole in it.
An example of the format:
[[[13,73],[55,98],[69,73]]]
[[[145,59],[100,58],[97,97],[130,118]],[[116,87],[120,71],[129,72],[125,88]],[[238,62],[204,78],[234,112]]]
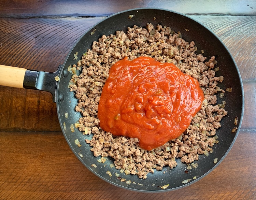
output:
[[[61,130],[51,93],[1,86],[0,97],[0,130]]]

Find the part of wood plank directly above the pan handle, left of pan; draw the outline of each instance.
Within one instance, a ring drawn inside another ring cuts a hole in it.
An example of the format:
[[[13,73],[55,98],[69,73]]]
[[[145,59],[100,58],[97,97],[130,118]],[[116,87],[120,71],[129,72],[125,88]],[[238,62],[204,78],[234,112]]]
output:
[[[54,72],[81,35],[103,18],[0,18],[0,62]]]

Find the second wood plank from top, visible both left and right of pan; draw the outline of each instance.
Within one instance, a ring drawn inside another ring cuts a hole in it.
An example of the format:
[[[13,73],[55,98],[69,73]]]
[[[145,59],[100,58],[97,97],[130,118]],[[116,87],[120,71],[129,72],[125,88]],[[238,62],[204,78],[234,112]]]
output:
[[[0,18],[0,63],[53,72],[63,63],[83,32],[103,18]],[[256,80],[256,17],[193,18],[210,28],[224,42],[237,62],[244,81]]]

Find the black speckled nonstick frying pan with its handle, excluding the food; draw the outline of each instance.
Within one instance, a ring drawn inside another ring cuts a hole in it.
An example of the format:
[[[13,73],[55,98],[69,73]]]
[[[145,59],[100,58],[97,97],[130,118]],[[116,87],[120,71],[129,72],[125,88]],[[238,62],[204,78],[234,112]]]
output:
[[[128,18],[129,15],[133,15],[133,17],[130,19]],[[75,132],[71,132],[69,128],[70,125],[74,124],[81,117],[81,114],[75,112],[74,108],[77,99],[74,97],[74,93],[70,92],[68,88],[72,75],[68,72],[68,66],[76,64],[77,60],[74,60],[74,54],[76,52],[78,52],[77,56],[81,58],[82,54],[91,47],[93,41],[97,41],[103,34],[114,34],[117,30],[126,32],[127,27],[132,27],[133,25],[145,27],[147,23],[152,23],[154,26],[157,24],[163,26],[166,25],[171,27],[175,32],[181,31],[183,39],[188,42],[195,41],[196,46],[199,49],[197,52],[198,54],[201,53],[201,49],[204,49],[204,56],[207,56],[208,59],[210,59],[211,56],[216,56],[218,61],[217,65],[221,69],[216,72],[216,76],[224,76],[224,82],[219,83],[218,86],[221,88],[232,87],[233,90],[232,92],[226,92],[224,98],[220,99],[218,97],[217,100],[218,103],[221,103],[222,101],[227,102],[225,109],[227,110],[228,115],[222,119],[222,127],[216,132],[219,143],[214,145],[213,153],[209,154],[208,157],[199,155],[199,160],[196,161],[198,167],[189,170],[188,173],[185,173],[187,165],[182,163],[180,159],[177,159],[177,167],[173,169],[165,167],[162,171],[155,171],[154,174],[149,173],[147,178],[143,180],[138,178],[137,175],[125,175],[124,173],[120,173],[119,170],[114,169],[114,167],[111,168],[110,164],[113,163],[112,158],[106,160],[104,164],[99,163],[97,161],[99,158],[93,156],[93,153],[90,151],[90,146],[85,142],[85,139],[90,139],[92,135],[83,135],[77,129],[75,129]],[[91,35],[91,32],[94,29],[96,29],[96,31]],[[185,31],[185,29],[188,29],[189,31]],[[237,65],[228,49],[207,27],[188,16],[170,10],[140,8],[119,12],[106,17],[84,33],[73,46],[63,65],[60,65],[58,70],[54,73],[38,72],[6,66],[1,66],[1,72],[0,85],[39,89],[51,92],[53,101],[57,104],[57,113],[63,135],[76,157],[91,172],[102,178],[104,181],[133,191],[171,191],[199,181],[216,168],[228,154],[237,138],[242,123],[244,110],[243,86]],[[55,81],[54,79],[57,75],[60,78],[59,81]],[[65,117],[65,113],[68,113],[68,119]],[[239,119],[237,126],[234,125],[235,117],[238,117]],[[66,124],[66,129],[64,128],[63,123]],[[238,128],[236,133],[231,133],[233,127]],[[82,145],[81,147],[75,144],[76,139],[79,140]],[[215,158],[218,159],[217,163],[214,163]],[[97,168],[92,167],[92,164],[97,165]],[[110,171],[112,176],[107,174],[106,171]],[[163,171],[165,171],[165,173],[163,173]],[[115,176],[115,173],[119,173],[120,177],[125,178],[126,181],[130,180],[132,183],[129,185],[126,182],[120,182],[120,179]],[[197,177],[196,180],[193,179],[194,176]],[[189,178],[192,179],[190,182],[186,184],[182,183],[182,181]],[[169,186],[166,189],[159,187],[168,184]]]

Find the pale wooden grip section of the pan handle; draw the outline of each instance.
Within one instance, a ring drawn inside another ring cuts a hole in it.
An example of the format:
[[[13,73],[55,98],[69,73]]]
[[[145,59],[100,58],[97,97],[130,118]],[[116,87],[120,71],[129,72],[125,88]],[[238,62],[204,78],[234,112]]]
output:
[[[0,65],[0,85],[23,88],[23,81],[27,69]]]

